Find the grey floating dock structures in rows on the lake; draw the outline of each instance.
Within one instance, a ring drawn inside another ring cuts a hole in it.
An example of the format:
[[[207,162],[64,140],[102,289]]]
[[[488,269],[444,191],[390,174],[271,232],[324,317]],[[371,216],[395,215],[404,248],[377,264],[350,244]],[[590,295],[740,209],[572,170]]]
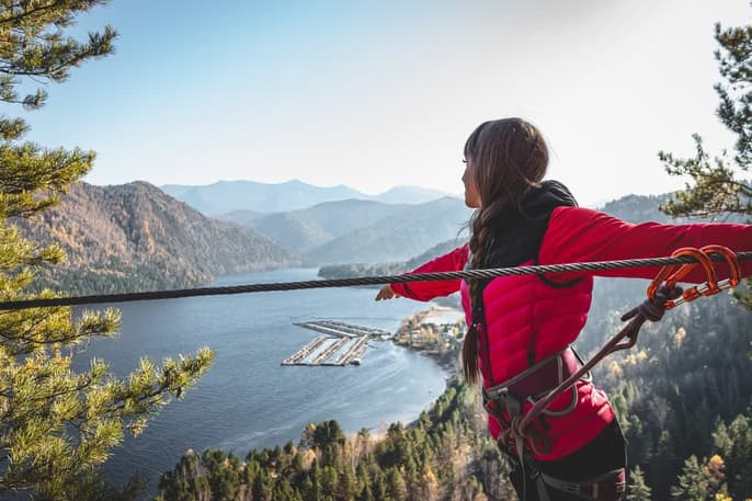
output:
[[[295,326],[327,334],[320,335],[282,361],[282,365],[360,365],[371,339],[389,339],[384,329],[334,320],[299,322]],[[339,354],[339,356],[338,356]]]

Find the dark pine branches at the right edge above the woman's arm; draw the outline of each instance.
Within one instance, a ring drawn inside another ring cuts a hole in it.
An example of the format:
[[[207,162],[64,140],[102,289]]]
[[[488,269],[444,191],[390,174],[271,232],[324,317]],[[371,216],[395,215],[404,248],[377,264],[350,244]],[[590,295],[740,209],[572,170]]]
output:
[[[716,114],[737,135],[736,155],[726,151],[713,160],[698,134],[695,157],[675,158],[661,151],[659,158],[672,175],[686,175],[692,180],[661,210],[672,216],[752,215],[752,184],[750,179],[738,178],[750,172],[752,166],[752,25],[721,29],[716,24],[716,50],[720,75],[725,83],[716,84],[720,104]],[[745,281],[748,288],[752,281]],[[752,294],[734,293],[739,303],[752,309]]]

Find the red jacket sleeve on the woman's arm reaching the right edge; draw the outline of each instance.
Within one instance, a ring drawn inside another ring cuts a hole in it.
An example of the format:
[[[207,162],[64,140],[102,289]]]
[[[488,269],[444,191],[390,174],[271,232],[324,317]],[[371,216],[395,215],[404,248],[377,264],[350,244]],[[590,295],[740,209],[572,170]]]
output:
[[[540,264],[612,261],[622,259],[663,258],[682,247],[725,246],[736,252],[752,250],[752,225],[698,223],[691,225],[633,225],[606,214],[581,207],[554,210],[544,236],[538,260]],[[752,261],[741,263],[742,275],[752,275]],[[588,272],[596,276],[654,278],[660,266],[627,267]],[[728,276],[729,266],[717,263],[719,280]],[[570,280],[578,274],[551,275]],[[682,282],[705,282],[697,266]]]

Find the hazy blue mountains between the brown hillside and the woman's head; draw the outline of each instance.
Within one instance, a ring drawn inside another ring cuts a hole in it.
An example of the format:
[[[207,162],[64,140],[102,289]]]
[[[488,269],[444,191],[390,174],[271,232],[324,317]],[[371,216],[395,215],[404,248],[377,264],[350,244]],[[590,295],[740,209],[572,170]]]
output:
[[[164,190],[206,214],[229,209],[214,215],[270,237],[305,265],[405,261],[456,237],[471,214],[458,197],[411,186],[375,197],[347,186],[319,187],[301,181],[223,181]],[[290,209],[297,206],[305,208]],[[285,209],[272,212],[273,207]]]

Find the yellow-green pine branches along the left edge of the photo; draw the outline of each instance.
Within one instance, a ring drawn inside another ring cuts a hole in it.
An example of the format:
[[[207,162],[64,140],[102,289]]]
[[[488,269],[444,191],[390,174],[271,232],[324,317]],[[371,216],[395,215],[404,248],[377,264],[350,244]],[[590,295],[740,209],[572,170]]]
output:
[[[105,0],[19,0],[0,2],[0,101],[35,110],[43,89],[21,95],[29,83],[62,82],[73,67],[113,52],[111,26],[79,42],[66,35],[78,14]],[[55,204],[86,174],[94,153],[49,149],[24,141],[27,124],[0,116],[0,300],[52,297],[30,292],[35,271],[64,259],[58,246],[41,248],[13,226]],[[0,312],[0,493],[31,490],[35,499],[73,499],[82,482],[99,482],[96,466],[121,443],[140,432],[172,395],[203,374],[212,352],[167,360],[143,360],[125,379],[107,364],[91,362],[73,373],[77,346],[111,337],[119,326],[113,309],[83,311],[38,308]],[[114,499],[114,498],[113,498]]]

